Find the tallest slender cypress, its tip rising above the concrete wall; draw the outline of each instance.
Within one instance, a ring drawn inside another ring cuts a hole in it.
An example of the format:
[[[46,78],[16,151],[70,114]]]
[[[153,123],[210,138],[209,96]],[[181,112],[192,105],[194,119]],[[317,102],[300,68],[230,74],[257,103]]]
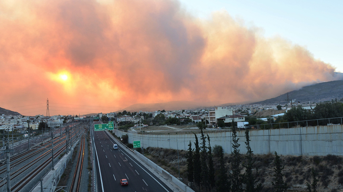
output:
[[[234,122],[232,121],[232,124]],[[235,126],[232,127],[232,148],[234,149],[233,154],[233,160],[231,161],[231,168],[232,168],[232,174],[231,174],[231,190],[234,192],[242,192],[243,191],[243,184],[242,184],[242,175],[240,174],[240,154],[238,147],[240,144],[238,144],[239,138],[237,138],[237,131]]]

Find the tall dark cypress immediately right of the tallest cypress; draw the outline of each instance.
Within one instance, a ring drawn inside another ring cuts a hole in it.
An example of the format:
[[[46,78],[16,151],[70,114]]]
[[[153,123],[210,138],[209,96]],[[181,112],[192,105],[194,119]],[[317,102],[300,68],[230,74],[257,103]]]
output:
[[[247,161],[243,166],[246,168],[246,171],[244,174],[244,182],[246,184],[246,192],[258,192],[258,191],[261,191],[262,184],[259,183],[257,185],[257,187],[255,188],[255,184],[258,182],[258,180],[257,180],[258,172],[257,172],[257,169],[256,169],[255,175],[252,172],[253,164],[255,161],[253,161],[253,159],[252,159],[252,152],[253,151],[251,150],[251,147],[250,147],[249,130],[245,131],[245,138],[246,138],[245,145],[247,148],[247,154],[246,154]]]

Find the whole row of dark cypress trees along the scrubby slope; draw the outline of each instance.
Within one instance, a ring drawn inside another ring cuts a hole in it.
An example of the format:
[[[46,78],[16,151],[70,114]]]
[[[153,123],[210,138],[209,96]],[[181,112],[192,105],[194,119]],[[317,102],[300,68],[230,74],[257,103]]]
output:
[[[224,150],[222,146],[214,146],[213,152],[210,145],[209,135],[205,136],[201,128],[201,143],[196,134],[194,134],[195,142],[189,141],[187,157],[187,177],[191,184],[191,188],[205,192],[259,192],[263,186],[259,177],[255,161],[253,160],[253,151],[250,147],[249,130],[245,131],[245,144],[247,153],[245,159],[239,153],[237,138],[237,128],[232,128],[232,158],[230,170],[225,166]],[[206,140],[208,146],[206,146]],[[194,144],[194,148],[192,145]],[[214,167],[213,155],[218,157],[219,166]],[[273,191],[287,192],[288,186],[284,181],[282,161],[277,152],[274,153],[274,174],[273,174]],[[243,171],[242,171],[243,170]],[[244,173],[242,173],[244,172]],[[308,191],[316,191],[317,179],[315,170],[312,171],[313,182],[307,183]],[[244,187],[243,187],[244,186]]]

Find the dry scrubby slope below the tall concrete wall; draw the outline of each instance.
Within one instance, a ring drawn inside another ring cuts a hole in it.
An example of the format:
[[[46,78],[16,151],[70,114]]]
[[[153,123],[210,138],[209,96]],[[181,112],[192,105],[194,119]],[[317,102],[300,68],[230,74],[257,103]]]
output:
[[[212,146],[213,147],[213,146]],[[157,165],[161,166],[170,174],[178,177],[178,156],[177,151],[173,149],[163,148],[147,148],[144,150],[145,156],[152,160]],[[245,155],[241,156],[245,161]],[[253,155],[255,168],[258,169],[258,179],[262,183],[262,192],[273,191],[273,175],[274,175],[274,155]],[[233,156],[226,154],[224,161],[228,170],[231,169]],[[303,192],[308,191],[306,184],[312,183],[311,168],[313,167],[317,173],[317,191],[321,192],[338,192],[343,191],[343,157],[335,155],[327,156],[280,156],[282,165],[284,165],[284,181],[289,186],[288,192]],[[187,180],[187,158],[186,151],[179,151],[180,176],[182,182],[188,184]],[[214,153],[214,168],[217,173],[219,159]],[[245,168],[241,167],[241,174],[244,174]],[[216,177],[215,177],[216,178]],[[216,178],[217,179],[217,178]],[[193,188],[198,192],[197,188]],[[215,190],[211,190],[215,191]]]

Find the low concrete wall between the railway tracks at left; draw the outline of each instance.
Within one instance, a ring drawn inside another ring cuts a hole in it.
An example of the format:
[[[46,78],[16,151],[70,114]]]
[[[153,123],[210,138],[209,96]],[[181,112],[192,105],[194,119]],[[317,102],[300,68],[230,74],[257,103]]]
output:
[[[63,157],[56,163],[54,166],[55,170],[50,170],[50,172],[43,178],[43,192],[54,192],[60,178],[66,169],[66,166],[71,159],[75,146],[78,144],[79,140],[75,142],[74,146],[71,149],[71,152],[66,153]],[[55,159],[55,158],[54,158]],[[40,182],[32,190],[32,192],[41,192]]]

